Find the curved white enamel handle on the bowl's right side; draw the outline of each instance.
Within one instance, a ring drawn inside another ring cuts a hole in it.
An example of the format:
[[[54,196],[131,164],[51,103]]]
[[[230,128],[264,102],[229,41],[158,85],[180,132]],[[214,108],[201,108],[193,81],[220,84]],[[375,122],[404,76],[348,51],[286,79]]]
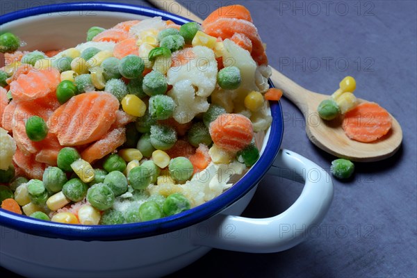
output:
[[[268,174],[304,183],[293,205],[272,218],[215,215],[203,222],[210,233],[204,237],[193,233],[193,243],[223,250],[270,253],[287,250],[307,238],[332,203],[331,177],[316,163],[287,149],[279,151]]]

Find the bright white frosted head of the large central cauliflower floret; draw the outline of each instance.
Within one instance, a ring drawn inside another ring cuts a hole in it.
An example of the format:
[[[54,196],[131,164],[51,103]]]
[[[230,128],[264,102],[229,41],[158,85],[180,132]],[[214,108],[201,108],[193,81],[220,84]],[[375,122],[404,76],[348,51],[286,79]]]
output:
[[[182,80],[188,80],[196,88],[195,95],[208,97],[215,89],[218,66],[212,49],[193,47],[194,58],[185,65],[171,67],[167,72],[167,83],[174,85]]]

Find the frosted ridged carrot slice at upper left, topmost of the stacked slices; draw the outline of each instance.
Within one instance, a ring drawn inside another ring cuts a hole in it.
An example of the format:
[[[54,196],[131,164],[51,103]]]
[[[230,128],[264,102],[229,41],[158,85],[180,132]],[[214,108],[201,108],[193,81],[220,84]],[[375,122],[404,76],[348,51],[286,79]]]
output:
[[[16,101],[32,101],[54,93],[59,83],[60,72],[54,67],[30,70],[10,83],[10,91]]]

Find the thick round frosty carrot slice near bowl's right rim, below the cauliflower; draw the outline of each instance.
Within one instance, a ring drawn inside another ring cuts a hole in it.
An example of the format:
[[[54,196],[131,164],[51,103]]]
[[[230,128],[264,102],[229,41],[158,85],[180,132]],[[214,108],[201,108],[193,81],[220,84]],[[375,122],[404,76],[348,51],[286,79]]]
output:
[[[240,114],[226,113],[218,116],[209,127],[215,145],[237,152],[250,144],[254,136],[252,122]]]

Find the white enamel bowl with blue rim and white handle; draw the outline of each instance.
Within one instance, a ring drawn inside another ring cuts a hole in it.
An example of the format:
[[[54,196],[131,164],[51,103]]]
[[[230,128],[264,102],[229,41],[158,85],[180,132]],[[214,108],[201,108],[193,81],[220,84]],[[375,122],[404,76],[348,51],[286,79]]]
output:
[[[3,15],[0,24],[1,31],[24,38],[27,49],[48,50],[85,41],[90,26],[108,28],[153,16],[179,24],[188,22],[126,4],[64,3]],[[333,197],[332,180],[306,158],[279,150],[284,131],[281,106],[270,106],[274,120],[261,158],[219,197],[161,220],[114,226],[43,222],[0,209],[1,266],[28,277],[157,277],[183,268],[212,247],[264,253],[297,245],[305,238],[300,227],[307,230],[319,224],[327,213]],[[237,216],[267,172],[304,183],[300,197],[272,218]],[[288,231],[288,227],[297,227],[297,232]]]

